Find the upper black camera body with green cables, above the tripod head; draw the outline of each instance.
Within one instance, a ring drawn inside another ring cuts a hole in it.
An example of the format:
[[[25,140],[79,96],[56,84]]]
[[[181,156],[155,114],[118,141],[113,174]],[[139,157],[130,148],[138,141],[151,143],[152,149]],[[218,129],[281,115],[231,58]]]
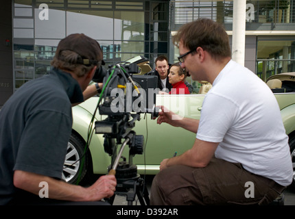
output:
[[[123,115],[126,112],[153,113],[156,103],[157,77],[134,75],[137,64],[117,64],[104,77],[104,102],[99,105],[101,115]]]

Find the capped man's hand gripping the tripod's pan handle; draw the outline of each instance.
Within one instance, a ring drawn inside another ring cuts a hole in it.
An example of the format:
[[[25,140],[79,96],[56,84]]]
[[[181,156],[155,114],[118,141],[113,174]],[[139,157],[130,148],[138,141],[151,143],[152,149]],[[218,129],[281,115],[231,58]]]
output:
[[[97,181],[88,187],[89,201],[99,201],[102,198],[110,198],[116,190],[117,180],[114,175],[99,177]]]

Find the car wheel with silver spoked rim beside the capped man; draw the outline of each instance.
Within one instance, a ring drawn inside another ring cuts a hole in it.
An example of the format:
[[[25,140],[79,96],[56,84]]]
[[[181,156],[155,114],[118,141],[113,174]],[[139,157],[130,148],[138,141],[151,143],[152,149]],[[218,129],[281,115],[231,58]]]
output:
[[[62,179],[67,181],[67,183],[81,184],[83,179],[91,175],[91,155],[88,151],[84,155],[84,164],[82,170],[80,170],[84,147],[85,142],[72,133],[68,142],[67,155],[64,159],[64,168],[62,170]]]

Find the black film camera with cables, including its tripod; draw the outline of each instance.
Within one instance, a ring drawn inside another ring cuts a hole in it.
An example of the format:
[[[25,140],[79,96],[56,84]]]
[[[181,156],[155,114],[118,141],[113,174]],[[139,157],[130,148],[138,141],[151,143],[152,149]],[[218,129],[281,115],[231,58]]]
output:
[[[103,75],[104,84],[98,103],[99,114],[107,118],[95,122],[95,133],[104,134],[104,151],[111,156],[108,174],[115,175],[117,179],[115,194],[126,196],[128,205],[132,205],[136,195],[141,205],[149,205],[145,181],[132,163],[134,155],[143,153],[144,139],[132,129],[142,113],[150,113],[152,118],[157,116],[158,79],[156,76],[136,75],[140,72],[138,64],[147,62],[145,57],[139,55],[128,61],[109,66],[108,70],[100,68],[96,73],[100,77],[96,81]],[[128,161],[122,157],[126,145],[129,146]],[[113,204],[114,199],[115,195],[108,201]]]

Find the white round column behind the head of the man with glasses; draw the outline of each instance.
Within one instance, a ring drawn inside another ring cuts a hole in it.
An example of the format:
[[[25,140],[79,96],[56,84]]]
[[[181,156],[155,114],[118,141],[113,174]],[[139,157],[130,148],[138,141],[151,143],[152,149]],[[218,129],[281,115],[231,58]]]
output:
[[[246,33],[246,0],[233,0],[232,59],[244,66]]]

